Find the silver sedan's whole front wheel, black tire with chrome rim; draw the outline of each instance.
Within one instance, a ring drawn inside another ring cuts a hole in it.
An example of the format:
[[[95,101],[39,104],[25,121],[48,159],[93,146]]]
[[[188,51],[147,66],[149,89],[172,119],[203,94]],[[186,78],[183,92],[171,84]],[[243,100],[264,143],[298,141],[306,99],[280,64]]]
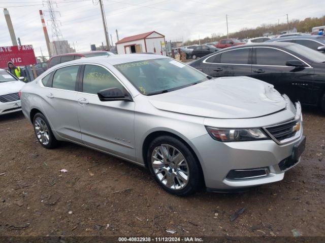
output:
[[[171,194],[187,196],[202,185],[199,161],[183,142],[174,137],[160,136],[150,143],[147,165],[158,184]]]

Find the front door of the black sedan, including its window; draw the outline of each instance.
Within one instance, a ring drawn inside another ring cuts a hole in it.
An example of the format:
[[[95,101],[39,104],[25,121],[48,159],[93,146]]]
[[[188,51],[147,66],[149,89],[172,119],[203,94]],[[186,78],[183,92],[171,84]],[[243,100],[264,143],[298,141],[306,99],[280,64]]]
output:
[[[313,88],[313,68],[286,66],[289,60],[303,61],[289,52],[273,47],[254,47],[252,77],[274,85],[292,101],[309,104]]]

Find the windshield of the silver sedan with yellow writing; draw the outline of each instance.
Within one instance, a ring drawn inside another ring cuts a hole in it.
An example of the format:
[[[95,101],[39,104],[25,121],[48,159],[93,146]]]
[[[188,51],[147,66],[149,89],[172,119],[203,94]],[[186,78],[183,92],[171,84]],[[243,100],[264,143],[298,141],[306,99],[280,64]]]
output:
[[[204,73],[171,58],[114,65],[143,95],[181,89],[207,80]]]

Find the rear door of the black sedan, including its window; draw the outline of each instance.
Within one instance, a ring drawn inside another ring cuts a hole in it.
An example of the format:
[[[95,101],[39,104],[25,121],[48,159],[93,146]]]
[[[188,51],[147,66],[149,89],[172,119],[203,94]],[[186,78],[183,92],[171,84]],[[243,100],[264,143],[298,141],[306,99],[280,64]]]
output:
[[[252,48],[238,48],[217,53],[205,59],[200,69],[212,77],[250,76]]]

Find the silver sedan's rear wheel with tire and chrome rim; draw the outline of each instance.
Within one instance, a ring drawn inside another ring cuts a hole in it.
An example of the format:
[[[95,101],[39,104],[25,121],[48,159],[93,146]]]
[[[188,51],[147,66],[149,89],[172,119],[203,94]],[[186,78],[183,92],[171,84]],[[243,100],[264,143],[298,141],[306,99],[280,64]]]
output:
[[[59,145],[59,141],[54,137],[51,127],[42,113],[35,114],[32,124],[35,135],[44,148],[52,149]]]

